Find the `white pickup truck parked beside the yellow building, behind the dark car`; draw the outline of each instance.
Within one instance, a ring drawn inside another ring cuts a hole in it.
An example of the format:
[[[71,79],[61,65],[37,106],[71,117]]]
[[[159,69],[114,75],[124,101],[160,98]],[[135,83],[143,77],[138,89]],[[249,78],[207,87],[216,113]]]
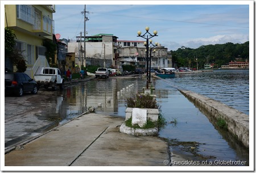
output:
[[[52,87],[55,91],[59,86],[60,90],[63,90],[64,79],[61,76],[61,72],[57,68],[43,67],[40,74],[34,75],[34,80],[38,83],[38,88],[44,86],[44,88]]]

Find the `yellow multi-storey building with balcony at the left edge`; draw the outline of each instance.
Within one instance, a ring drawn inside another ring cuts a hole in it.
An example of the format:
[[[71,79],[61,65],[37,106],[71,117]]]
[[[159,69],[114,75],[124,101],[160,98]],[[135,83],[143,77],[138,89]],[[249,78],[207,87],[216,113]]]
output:
[[[23,51],[27,73],[34,77],[36,70],[49,66],[43,40],[53,39],[55,5],[5,5],[5,27],[16,35],[15,47]],[[14,69],[15,71],[15,69]]]

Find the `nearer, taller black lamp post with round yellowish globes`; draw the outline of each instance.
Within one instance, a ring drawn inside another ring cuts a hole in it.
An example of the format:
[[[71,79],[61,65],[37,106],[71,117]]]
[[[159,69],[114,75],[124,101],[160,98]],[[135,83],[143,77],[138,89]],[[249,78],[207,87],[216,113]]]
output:
[[[147,89],[148,89],[148,39],[151,39],[152,37],[154,37],[154,36],[158,36],[157,34],[158,34],[158,32],[157,31],[153,31],[153,33],[154,33],[154,35],[152,35],[150,32],[148,32],[149,31],[149,27],[146,27],[145,28],[146,29],[146,32],[143,34],[143,35],[141,35],[141,31],[138,31],[137,33],[138,33],[138,36],[137,37],[142,37],[143,39],[146,39],[146,63],[147,63],[147,66],[146,66],[146,76],[147,76],[147,83],[146,83],[146,86],[147,86]]]

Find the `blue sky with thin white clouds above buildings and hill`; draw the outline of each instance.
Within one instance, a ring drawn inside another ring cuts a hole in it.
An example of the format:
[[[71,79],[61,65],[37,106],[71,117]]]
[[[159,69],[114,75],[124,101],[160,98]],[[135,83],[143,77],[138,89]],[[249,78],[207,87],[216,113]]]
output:
[[[125,1],[127,5],[116,5],[119,1],[86,2],[90,3],[86,5],[87,36],[112,33],[119,40],[143,40],[137,32],[144,33],[148,26],[151,33],[158,31],[153,42],[168,50],[249,41],[249,4],[253,1],[157,1],[162,5],[144,5],[155,1]],[[76,40],[80,32],[84,35],[84,5],[62,4],[56,5],[53,14],[55,33],[60,33],[61,39]]]

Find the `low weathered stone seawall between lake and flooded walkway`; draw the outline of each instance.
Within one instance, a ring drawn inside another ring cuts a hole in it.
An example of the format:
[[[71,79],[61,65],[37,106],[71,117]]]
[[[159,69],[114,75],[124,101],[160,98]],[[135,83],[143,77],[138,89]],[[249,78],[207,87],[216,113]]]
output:
[[[192,91],[179,90],[188,100],[199,109],[215,119],[224,119],[228,125],[228,131],[232,133],[242,144],[249,148],[249,115],[237,109],[226,106],[221,102],[210,99],[207,96]]]

